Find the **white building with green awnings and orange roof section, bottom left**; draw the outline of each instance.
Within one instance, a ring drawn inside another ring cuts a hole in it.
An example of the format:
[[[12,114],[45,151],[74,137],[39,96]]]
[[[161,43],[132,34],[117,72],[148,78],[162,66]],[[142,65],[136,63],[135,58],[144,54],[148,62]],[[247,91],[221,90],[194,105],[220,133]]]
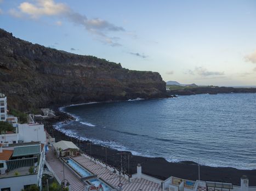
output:
[[[36,184],[41,187],[44,145],[39,142],[0,146],[0,190],[21,190]]]

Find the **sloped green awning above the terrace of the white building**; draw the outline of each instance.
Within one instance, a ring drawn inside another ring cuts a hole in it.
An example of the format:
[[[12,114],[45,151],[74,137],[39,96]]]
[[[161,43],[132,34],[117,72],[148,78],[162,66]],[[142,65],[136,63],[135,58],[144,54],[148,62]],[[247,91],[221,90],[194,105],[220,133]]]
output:
[[[29,156],[41,153],[41,145],[14,147],[13,157]]]

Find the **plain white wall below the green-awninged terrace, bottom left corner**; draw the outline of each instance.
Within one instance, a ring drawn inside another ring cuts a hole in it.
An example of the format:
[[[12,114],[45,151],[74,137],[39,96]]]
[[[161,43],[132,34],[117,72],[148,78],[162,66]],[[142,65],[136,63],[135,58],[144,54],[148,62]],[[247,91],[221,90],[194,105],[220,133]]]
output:
[[[37,182],[37,174],[0,178],[0,190],[1,188],[10,188],[10,190],[20,191],[21,189],[24,189],[25,185],[37,184]]]

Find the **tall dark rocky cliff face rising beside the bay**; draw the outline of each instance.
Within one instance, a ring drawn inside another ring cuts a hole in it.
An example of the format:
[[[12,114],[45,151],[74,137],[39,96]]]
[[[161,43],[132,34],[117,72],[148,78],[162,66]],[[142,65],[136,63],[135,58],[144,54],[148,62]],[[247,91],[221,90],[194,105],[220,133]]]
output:
[[[50,49],[0,29],[0,92],[20,110],[166,96],[160,74]]]

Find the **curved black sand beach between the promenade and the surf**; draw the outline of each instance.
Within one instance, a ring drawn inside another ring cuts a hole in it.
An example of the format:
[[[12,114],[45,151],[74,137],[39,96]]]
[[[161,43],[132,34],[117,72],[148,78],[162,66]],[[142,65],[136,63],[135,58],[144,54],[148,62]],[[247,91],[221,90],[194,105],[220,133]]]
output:
[[[66,114],[62,111],[56,111],[55,114],[59,116],[58,119],[49,119],[44,121],[45,129],[47,132],[55,138],[55,141],[60,140],[72,141],[83,152],[86,152],[92,157],[98,158],[101,161],[106,161],[107,151],[107,164],[115,166],[120,169],[120,151],[113,148],[104,147],[101,145],[93,144],[89,140],[79,140],[72,136],[66,135],[58,129],[53,127],[56,122],[72,121],[75,120],[73,116]],[[91,151],[90,151],[91,147]],[[136,165],[138,163],[142,166],[144,174],[166,180],[170,176],[184,178],[187,180],[198,180],[198,165],[195,162],[168,162],[162,157],[143,157],[133,155],[130,151],[122,151],[123,155],[123,168],[128,172],[128,155],[129,155],[129,172],[130,174],[136,173]],[[212,166],[200,166],[200,180],[215,181],[215,182],[227,182],[236,186],[240,186],[240,178],[246,175],[249,178],[249,186],[256,186],[256,169],[254,170],[239,170],[229,167],[212,167]]]

